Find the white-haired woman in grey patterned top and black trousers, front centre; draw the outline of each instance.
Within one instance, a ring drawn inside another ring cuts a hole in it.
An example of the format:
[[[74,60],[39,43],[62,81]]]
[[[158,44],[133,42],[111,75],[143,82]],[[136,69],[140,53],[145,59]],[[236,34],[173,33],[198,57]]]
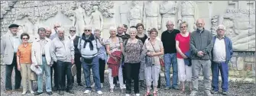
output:
[[[125,45],[125,71],[126,71],[126,96],[131,94],[131,78],[134,80],[134,93],[139,96],[138,75],[141,66],[141,51],[143,43],[136,39],[136,28],[130,28],[130,36]]]

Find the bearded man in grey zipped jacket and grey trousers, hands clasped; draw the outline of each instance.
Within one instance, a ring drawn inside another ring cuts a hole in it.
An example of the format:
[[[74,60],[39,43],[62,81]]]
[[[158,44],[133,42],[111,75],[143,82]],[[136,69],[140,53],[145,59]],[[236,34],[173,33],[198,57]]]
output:
[[[205,21],[200,18],[196,21],[197,30],[190,35],[190,50],[192,62],[193,91],[190,95],[195,96],[198,91],[199,72],[203,69],[203,83],[206,95],[211,95],[211,51],[212,33],[204,28]]]

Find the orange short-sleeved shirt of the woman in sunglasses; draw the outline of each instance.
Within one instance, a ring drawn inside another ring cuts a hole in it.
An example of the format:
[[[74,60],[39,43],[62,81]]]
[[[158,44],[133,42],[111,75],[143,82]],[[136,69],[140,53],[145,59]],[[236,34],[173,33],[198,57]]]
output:
[[[24,44],[21,43],[20,46],[18,46],[17,56],[20,57],[20,63],[21,64],[31,64],[31,47],[32,44],[28,43],[27,46],[24,46]]]

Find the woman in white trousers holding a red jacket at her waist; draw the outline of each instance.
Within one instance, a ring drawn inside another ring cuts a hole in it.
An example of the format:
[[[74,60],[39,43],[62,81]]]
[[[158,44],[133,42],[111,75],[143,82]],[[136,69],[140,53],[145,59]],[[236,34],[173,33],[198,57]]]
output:
[[[123,77],[122,75],[122,62],[121,59],[117,59],[116,56],[113,56],[113,53],[122,53],[123,50],[123,41],[121,37],[116,37],[116,28],[110,27],[109,28],[109,34],[110,38],[106,40],[105,46],[106,51],[109,55],[108,57],[108,65],[109,65],[109,84],[110,84],[110,92],[114,92],[114,84],[113,84],[113,78],[118,75],[118,77]],[[122,56],[121,56],[122,57]],[[115,64],[115,66],[112,66],[112,64],[109,64],[109,59],[115,59],[115,62],[119,62],[118,64]],[[117,68],[116,68],[117,66]],[[120,88],[122,92],[124,92],[124,82],[123,78],[119,78]]]

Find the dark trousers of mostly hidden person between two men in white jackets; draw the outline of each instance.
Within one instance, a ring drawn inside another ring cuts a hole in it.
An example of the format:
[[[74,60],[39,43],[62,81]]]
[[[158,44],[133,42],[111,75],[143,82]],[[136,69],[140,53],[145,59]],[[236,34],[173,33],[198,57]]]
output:
[[[54,72],[53,72],[54,70]],[[50,82],[53,86],[53,79],[54,78],[54,86],[53,88],[58,88],[58,78],[57,78],[57,62],[53,62],[53,66],[50,67]],[[54,76],[54,77],[53,77]]]

